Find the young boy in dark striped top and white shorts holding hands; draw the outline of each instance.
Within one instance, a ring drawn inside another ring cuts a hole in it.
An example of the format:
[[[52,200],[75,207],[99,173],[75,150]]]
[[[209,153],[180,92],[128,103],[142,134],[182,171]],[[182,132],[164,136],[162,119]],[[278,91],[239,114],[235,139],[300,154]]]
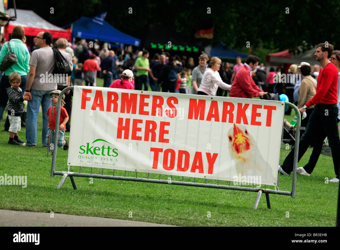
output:
[[[28,100],[29,97],[22,97],[22,90],[19,87],[21,84],[21,77],[17,72],[13,72],[8,76],[11,87],[6,88],[8,95],[7,112],[8,120],[10,121],[10,139],[8,144],[20,145],[24,143],[18,138],[18,132],[21,129],[21,116],[24,110],[23,100]]]

